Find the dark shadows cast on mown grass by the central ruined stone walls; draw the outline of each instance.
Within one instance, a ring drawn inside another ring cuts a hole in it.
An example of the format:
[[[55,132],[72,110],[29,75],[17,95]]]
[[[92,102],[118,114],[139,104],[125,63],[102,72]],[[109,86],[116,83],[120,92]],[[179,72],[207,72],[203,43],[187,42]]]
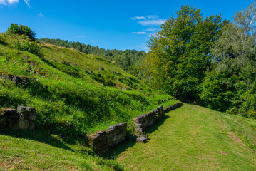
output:
[[[145,131],[145,133],[151,134],[151,133],[155,132],[155,130],[158,130],[160,125],[163,125],[165,120],[167,120],[168,118],[170,118],[170,116],[164,115],[163,118],[161,118],[157,123],[155,123],[155,125],[148,128]],[[150,140],[150,136],[149,136],[148,140]],[[147,143],[147,142],[145,142],[145,143]],[[128,140],[126,140],[126,142],[123,142],[122,144],[118,145],[117,147],[109,150],[105,155],[103,155],[103,158],[116,159],[116,157],[118,157],[118,155],[125,152],[129,147],[133,147],[134,145],[135,145],[135,142],[128,142]]]

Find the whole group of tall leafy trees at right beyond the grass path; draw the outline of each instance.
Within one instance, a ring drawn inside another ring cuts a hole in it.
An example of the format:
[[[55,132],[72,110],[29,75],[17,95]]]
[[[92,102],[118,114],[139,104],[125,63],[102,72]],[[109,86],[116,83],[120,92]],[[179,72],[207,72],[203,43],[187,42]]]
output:
[[[182,6],[150,39],[146,81],[189,103],[256,118],[256,6],[232,22]]]

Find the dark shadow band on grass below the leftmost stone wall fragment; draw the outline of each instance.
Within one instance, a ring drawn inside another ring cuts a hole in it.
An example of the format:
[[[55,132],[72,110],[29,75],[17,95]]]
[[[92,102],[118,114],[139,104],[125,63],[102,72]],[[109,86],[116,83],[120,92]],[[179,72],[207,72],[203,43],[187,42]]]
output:
[[[53,145],[54,147],[62,148],[64,150],[70,150],[74,152],[70,147],[66,146],[61,140],[53,137],[51,134],[43,130],[34,131],[21,131],[21,130],[10,130],[7,128],[0,129],[1,135],[7,135],[14,138],[24,138],[28,140],[35,140],[38,142],[46,143],[48,145]]]

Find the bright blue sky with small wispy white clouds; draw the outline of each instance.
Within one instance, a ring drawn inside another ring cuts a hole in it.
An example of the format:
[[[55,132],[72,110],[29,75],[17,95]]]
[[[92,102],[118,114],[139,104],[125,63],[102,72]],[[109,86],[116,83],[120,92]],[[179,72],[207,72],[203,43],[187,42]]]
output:
[[[182,5],[200,8],[204,16],[232,19],[251,0],[0,0],[0,32],[10,23],[31,27],[36,38],[61,38],[109,49],[145,50],[150,34]]]

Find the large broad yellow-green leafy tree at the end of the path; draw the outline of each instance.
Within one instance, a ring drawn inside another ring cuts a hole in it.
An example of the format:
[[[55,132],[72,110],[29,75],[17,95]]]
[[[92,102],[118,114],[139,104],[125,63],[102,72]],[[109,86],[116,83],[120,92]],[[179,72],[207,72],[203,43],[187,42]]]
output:
[[[203,19],[200,9],[182,6],[161,26],[148,43],[148,73],[155,88],[163,88],[180,100],[198,99],[198,86],[210,70],[210,48],[227,24],[221,16]]]

